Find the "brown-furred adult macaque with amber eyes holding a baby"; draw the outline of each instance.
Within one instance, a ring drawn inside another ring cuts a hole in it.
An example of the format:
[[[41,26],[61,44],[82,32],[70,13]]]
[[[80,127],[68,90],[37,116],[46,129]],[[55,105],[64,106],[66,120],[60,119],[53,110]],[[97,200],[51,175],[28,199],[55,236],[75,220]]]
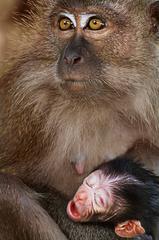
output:
[[[0,240],[66,239],[32,187],[71,198],[128,151],[159,173],[158,16],[149,0],[17,2],[0,68]],[[112,239],[73,226],[69,239]]]

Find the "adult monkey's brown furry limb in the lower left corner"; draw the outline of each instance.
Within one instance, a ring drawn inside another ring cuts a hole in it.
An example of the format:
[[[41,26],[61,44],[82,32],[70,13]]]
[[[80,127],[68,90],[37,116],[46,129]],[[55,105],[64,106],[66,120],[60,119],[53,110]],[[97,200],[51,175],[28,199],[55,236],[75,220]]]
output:
[[[0,174],[0,240],[66,240],[38,198],[16,177]]]

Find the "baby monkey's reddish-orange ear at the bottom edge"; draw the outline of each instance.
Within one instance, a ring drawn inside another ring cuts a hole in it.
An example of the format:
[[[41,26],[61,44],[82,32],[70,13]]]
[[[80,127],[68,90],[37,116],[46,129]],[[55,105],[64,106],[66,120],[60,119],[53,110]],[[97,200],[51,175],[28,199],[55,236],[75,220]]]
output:
[[[140,221],[129,220],[124,223],[118,224],[115,227],[115,233],[119,237],[134,238],[145,233]]]

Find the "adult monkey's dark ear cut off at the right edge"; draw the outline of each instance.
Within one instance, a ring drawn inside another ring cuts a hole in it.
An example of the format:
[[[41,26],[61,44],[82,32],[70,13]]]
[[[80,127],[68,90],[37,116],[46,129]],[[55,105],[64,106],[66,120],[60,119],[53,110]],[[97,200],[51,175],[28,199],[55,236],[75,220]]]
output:
[[[149,13],[152,22],[151,31],[159,35],[159,1],[155,1],[150,5]]]

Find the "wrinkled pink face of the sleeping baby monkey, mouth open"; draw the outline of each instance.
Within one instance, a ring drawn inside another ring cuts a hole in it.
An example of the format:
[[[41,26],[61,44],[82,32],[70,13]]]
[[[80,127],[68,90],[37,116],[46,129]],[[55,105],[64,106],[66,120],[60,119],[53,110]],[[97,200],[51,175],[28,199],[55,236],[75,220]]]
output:
[[[95,215],[106,216],[114,205],[111,191],[112,178],[97,170],[85,178],[72,201],[67,213],[74,221],[89,221]],[[116,179],[117,180],[117,179]]]

